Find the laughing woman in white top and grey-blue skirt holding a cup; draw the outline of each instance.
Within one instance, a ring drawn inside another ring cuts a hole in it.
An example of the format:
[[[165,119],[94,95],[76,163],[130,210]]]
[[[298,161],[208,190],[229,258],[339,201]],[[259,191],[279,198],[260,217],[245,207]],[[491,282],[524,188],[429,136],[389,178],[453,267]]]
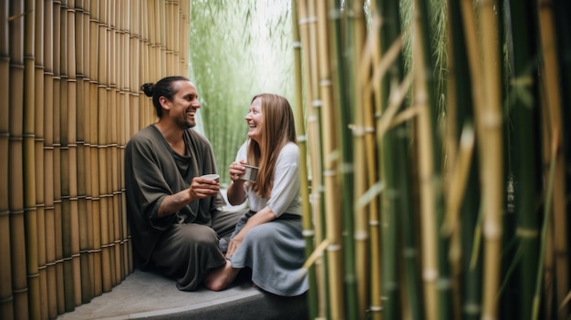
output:
[[[305,240],[299,199],[299,149],[292,108],[284,97],[261,94],[245,116],[248,140],[230,165],[228,201],[248,201],[228,243],[226,265],[210,274],[205,285],[223,290],[240,269],[252,269],[254,284],[272,294],[295,296],[308,288]],[[240,179],[244,164],[258,167],[255,182]]]

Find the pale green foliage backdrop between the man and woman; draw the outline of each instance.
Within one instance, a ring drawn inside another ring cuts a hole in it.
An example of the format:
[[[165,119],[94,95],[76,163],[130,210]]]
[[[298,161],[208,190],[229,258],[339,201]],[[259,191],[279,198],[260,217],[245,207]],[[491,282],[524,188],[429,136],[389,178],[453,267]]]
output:
[[[202,103],[196,129],[213,144],[221,184],[247,139],[252,97],[273,92],[293,102],[290,15],[289,1],[192,1],[189,77]]]

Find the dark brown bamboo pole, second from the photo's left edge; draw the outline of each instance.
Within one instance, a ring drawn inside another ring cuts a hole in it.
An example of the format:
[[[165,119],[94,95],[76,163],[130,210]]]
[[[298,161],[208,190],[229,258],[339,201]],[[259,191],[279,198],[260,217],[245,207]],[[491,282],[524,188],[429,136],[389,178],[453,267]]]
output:
[[[10,244],[12,263],[12,292],[15,315],[28,317],[28,297],[26,283],[26,226],[24,220],[25,196],[22,177],[24,176],[23,160],[23,125],[24,125],[24,1],[15,1],[10,5],[9,17],[9,52],[10,88],[8,94],[8,207],[10,221]]]

